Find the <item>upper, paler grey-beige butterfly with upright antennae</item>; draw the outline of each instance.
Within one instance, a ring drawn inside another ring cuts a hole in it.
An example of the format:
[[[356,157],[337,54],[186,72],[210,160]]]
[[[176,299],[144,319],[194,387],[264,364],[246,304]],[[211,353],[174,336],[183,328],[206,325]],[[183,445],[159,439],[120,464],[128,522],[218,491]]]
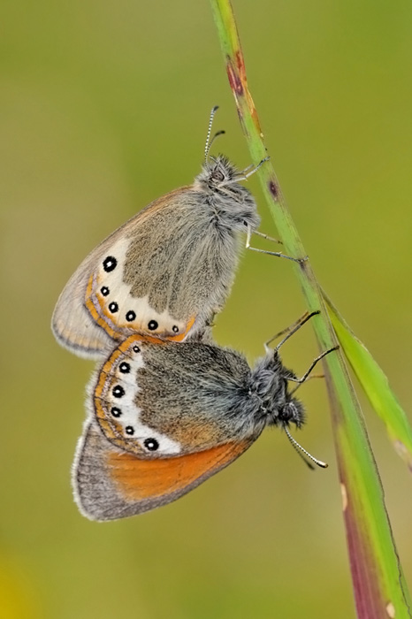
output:
[[[247,233],[248,247],[250,235],[258,233],[255,200],[240,180],[260,164],[238,172],[226,157],[209,157],[216,110],[194,183],[158,198],[120,226],[60,294],[52,331],[73,353],[102,358],[134,332],[172,341],[202,339],[222,309],[240,233]]]

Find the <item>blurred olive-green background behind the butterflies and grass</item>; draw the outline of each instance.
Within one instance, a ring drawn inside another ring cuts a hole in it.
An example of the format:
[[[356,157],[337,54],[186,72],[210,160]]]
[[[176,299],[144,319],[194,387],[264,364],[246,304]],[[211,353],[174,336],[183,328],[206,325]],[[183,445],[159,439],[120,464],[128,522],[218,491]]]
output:
[[[234,0],[266,143],[317,275],[410,411],[412,4]],[[7,619],[353,617],[324,386],[301,390],[310,473],[280,432],[186,498],[90,523],[69,471],[93,363],[50,332],[88,251],[191,182],[210,108],[245,166],[210,6],[3,3],[0,615]],[[276,235],[258,180],[250,180]],[[304,310],[286,261],[244,256],[215,331],[252,362]],[[304,371],[307,328],[284,349]],[[412,486],[362,399],[393,533],[412,575]]]

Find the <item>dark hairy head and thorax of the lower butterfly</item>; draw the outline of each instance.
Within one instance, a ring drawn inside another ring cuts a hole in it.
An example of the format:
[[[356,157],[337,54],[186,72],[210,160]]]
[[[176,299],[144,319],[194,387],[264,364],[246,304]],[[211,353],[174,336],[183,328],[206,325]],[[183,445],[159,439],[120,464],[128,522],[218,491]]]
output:
[[[260,359],[251,374],[250,390],[256,401],[256,416],[266,425],[300,428],[305,421],[301,401],[290,393],[288,381],[296,378],[283,365],[278,352],[271,351]]]

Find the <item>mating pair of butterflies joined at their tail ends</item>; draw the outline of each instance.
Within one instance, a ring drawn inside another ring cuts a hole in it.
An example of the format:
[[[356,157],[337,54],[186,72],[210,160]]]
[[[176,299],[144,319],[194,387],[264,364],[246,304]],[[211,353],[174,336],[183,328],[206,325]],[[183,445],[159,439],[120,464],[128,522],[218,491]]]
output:
[[[174,501],[233,462],[266,425],[288,433],[303,422],[289,381],[308,373],[299,380],[286,370],[279,346],[251,370],[243,355],[210,343],[240,233],[249,246],[259,225],[239,182],[256,168],[237,172],[209,156],[216,109],[193,185],[149,204],[95,248],[53,314],[57,341],[101,363],[72,471],[80,511],[95,520]]]

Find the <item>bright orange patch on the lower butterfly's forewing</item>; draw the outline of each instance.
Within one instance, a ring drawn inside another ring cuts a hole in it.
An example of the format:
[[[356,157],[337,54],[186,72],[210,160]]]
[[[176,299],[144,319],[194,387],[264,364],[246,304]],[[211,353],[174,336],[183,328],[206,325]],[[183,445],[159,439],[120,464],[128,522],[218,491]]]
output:
[[[242,454],[254,439],[226,443],[195,454],[174,458],[140,460],[132,454],[109,452],[109,475],[127,501],[177,493],[189,485],[224,468]]]

